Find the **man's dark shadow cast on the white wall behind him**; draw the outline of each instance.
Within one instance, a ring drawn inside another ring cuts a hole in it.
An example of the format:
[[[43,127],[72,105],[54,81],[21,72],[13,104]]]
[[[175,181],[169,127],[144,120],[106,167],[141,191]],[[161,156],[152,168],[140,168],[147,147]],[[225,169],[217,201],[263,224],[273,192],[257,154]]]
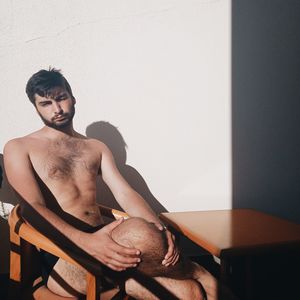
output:
[[[167,211],[153,196],[141,174],[126,164],[127,145],[117,127],[105,121],[94,122],[86,128],[86,135],[107,145],[122,176],[147,201],[155,213]],[[97,182],[97,201],[103,205],[120,209],[110,189],[101,178]]]

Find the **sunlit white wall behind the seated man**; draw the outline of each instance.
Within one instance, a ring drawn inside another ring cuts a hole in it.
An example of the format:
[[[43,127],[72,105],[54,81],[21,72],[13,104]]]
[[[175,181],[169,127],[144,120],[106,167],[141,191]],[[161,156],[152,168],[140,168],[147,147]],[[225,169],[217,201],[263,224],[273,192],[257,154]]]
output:
[[[49,65],[105,120],[168,210],[231,207],[229,0],[0,2],[0,151],[41,126],[24,88]]]

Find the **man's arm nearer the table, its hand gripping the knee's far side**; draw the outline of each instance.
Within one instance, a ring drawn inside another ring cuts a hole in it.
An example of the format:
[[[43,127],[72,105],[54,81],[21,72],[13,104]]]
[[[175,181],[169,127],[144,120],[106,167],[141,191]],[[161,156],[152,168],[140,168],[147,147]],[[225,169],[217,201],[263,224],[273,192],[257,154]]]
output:
[[[104,182],[108,185],[114,197],[131,217],[144,218],[148,222],[154,223],[160,230],[165,229],[147,202],[130,187],[120,174],[110,150],[105,145],[102,150],[101,172]],[[166,235],[169,248],[163,264],[168,266],[178,261],[179,252],[175,245],[174,235],[168,230],[166,230]]]

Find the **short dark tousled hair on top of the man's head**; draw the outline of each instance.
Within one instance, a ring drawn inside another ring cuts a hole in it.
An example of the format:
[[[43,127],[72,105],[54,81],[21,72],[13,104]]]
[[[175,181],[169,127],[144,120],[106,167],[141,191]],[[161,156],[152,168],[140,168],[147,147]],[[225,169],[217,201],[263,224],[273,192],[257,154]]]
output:
[[[57,87],[64,88],[74,98],[71,86],[60,70],[54,68],[40,70],[29,78],[26,85],[26,94],[35,105],[35,94],[41,97],[49,97]]]

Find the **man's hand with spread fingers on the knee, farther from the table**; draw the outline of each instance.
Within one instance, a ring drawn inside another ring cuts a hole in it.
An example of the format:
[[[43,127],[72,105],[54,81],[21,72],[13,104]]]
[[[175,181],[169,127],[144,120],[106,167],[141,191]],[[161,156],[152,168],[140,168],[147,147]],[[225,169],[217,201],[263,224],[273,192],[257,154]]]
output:
[[[93,237],[90,241],[93,247],[91,254],[115,271],[136,267],[141,261],[139,258],[141,252],[138,249],[123,247],[111,237],[112,230],[122,222],[123,219],[119,219],[92,233]]]

